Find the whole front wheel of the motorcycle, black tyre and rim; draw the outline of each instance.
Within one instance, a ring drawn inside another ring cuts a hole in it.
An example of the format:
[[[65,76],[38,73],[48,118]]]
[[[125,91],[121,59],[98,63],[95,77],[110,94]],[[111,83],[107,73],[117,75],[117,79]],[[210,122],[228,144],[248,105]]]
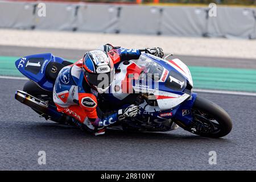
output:
[[[217,104],[205,98],[197,97],[191,109],[193,120],[184,129],[202,137],[220,138],[232,130],[232,121],[228,113]]]

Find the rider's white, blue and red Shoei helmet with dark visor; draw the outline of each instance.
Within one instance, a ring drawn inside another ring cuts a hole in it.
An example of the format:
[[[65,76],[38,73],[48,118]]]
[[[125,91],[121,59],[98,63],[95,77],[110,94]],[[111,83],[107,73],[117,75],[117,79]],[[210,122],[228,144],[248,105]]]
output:
[[[85,53],[82,71],[86,82],[100,93],[105,92],[114,80],[114,63],[108,53],[101,50]]]

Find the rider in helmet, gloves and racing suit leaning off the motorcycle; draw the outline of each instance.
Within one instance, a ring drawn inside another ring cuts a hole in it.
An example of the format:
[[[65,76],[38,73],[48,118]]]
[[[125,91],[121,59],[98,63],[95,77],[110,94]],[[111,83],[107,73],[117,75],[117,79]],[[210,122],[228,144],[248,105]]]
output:
[[[97,105],[98,93],[104,93],[114,80],[114,64],[139,59],[141,52],[163,57],[162,48],[125,49],[105,44],[97,50],[86,52],[84,57],[59,72],[53,88],[53,101],[57,110],[71,116],[81,128],[86,125],[95,135],[104,134],[106,126],[126,117],[135,117],[139,111],[130,105],[112,114],[102,113]],[[99,76],[108,76],[104,85]],[[84,124],[84,125],[83,125]],[[85,127],[86,128],[86,127]]]

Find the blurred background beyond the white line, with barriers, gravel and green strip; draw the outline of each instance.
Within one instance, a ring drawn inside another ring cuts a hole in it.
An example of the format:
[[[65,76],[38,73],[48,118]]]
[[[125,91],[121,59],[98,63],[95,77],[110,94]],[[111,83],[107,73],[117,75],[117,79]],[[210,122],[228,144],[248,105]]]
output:
[[[0,1],[0,76],[22,77],[22,56],[75,61],[106,43],[162,47],[196,89],[256,92],[256,0]]]

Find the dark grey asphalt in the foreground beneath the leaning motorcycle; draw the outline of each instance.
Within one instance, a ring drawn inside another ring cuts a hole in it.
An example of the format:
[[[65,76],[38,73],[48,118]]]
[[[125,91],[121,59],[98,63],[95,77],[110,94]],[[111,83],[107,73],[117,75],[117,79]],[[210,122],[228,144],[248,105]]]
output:
[[[256,102],[252,96],[200,93],[233,119],[224,138],[197,137],[183,129],[167,133],[108,131],[94,137],[75,127],[39,118],[14,99],[24,80],[0,79],[0,170],[255,170]],[[38,152],[46,152],[46,165]],[[209,151],[217,152],[210,165]]]

